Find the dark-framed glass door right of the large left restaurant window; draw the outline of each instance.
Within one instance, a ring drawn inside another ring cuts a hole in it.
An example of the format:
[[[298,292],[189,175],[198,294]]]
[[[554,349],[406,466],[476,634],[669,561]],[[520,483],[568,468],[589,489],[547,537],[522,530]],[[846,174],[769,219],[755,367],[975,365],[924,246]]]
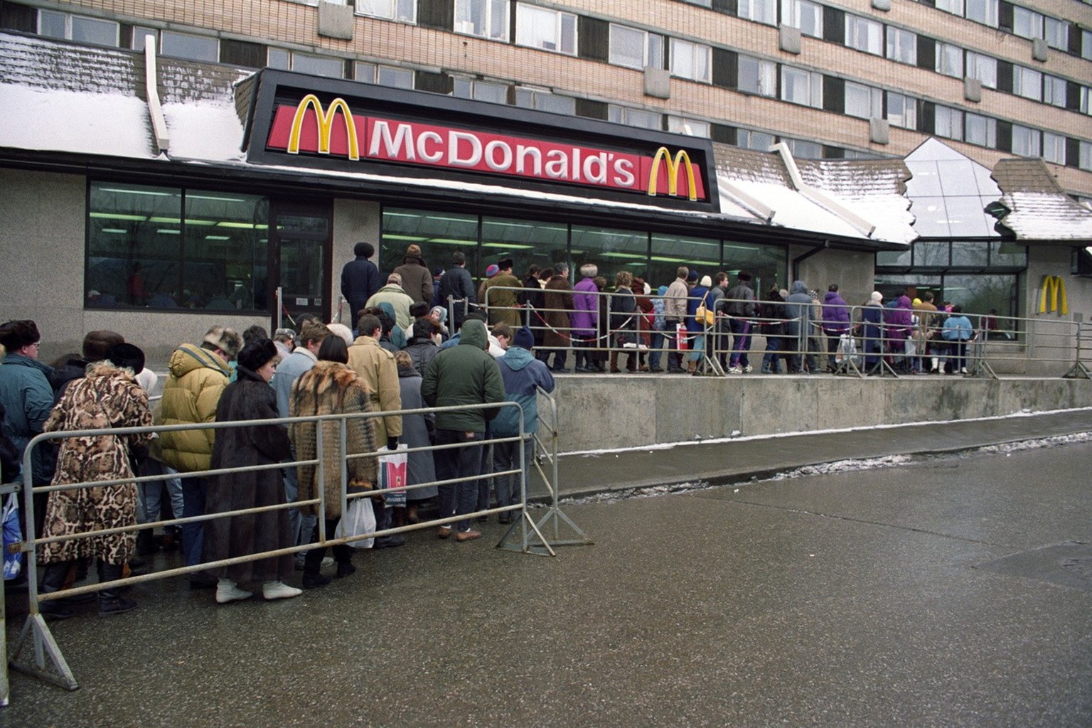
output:
[[[295,326],[301,313],[330,321],[330,251],[332,206],[330,201],[307,203],[273,200],[271,204],[270,276],[276,300],[281,287],[281,311],[273,313],[273,327]],[[274,308],[275,308],[274,303]]]

